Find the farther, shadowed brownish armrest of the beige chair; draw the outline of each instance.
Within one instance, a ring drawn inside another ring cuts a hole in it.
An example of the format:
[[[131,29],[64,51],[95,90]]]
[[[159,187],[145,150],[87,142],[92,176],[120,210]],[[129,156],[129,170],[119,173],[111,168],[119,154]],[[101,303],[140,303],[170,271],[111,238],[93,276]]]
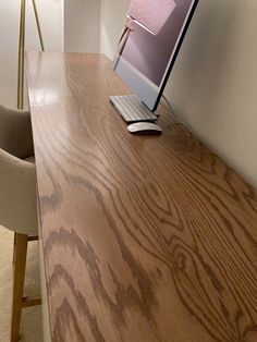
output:
[[[34,155],[28,111],[0,105],[0,148],[21,159]]]

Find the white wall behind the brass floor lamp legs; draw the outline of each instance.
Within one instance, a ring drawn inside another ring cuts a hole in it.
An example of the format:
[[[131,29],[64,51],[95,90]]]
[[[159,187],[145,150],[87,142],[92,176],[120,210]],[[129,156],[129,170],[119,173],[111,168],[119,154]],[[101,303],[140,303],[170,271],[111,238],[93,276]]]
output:
[[[63,48],[63,0],[36,0],[46,50]],[[16,106],[17,46],[21,0],[0,1],[0,101]],[[26,49],[38,50],[39,42],[32,1],[27,0]]]

